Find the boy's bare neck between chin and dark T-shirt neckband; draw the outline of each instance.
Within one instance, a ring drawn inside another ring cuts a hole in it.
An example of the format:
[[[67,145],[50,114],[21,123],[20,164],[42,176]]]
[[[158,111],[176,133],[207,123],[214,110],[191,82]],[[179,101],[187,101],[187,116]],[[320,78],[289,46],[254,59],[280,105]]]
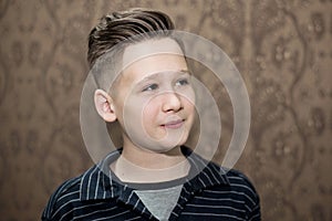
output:
[[[124,145],[121,157],[111,166],[125,182],[162,182],[188,175],[190,165],[180,147],[167,152],[154,152],[136,146]]]

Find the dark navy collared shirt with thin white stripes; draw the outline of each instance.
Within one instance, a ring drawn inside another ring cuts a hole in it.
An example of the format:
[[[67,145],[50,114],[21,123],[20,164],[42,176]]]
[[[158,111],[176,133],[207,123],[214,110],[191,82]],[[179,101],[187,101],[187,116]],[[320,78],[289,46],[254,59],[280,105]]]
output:
[[[259,197],[247,177],[236,170],[227,172],[183,147],[190,171],[183,182],[178,201],[168,220],[260,220]],[[111,152],[77,178],[61,185],[51,196],[42,220],[157,220],[135,193],[123,183],[110,165],[121,150]],[[174,182],[158,186],[169,188]]]

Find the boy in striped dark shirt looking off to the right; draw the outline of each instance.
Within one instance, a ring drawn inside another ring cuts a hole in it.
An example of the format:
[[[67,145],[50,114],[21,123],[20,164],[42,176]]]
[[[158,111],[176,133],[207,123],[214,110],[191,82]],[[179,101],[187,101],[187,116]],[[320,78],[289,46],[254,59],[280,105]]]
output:
[[[111,88],[96,76],[94,102],[105,122],[121,125],[123,148],[64,182],[42,220],[260,220],[259,197],[243,175],[222,172],[183,146],[195,93],[173,29],[166,14],[133,9],[92,30],[91,69],[118,50],[120,75]]]

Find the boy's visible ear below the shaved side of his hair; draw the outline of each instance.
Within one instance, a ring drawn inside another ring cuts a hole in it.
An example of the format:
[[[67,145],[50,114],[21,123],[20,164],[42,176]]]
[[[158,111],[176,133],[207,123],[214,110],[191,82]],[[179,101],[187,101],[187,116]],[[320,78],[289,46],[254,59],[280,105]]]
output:
[[[115,122],[114,103],[111,96],[103,90],[94,92],[94,105],[97,113],[105,122]]]

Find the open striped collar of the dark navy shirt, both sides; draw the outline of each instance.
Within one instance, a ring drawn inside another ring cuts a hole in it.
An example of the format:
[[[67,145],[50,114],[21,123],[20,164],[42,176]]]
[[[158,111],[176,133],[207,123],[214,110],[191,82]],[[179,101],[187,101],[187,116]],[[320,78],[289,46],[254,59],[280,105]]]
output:
[[[225,169],[203,159],[187,147],[181,147],[181,151],[191,166],[186,182],[191,189],[200,190],[215,185],[229,185]],[[121,154],[122,149],[108,154],[97,165],[83,173],[80,187],[81,200],[117,198],[131,189],[126,185],[117,181],[117,178],[110,169],[110,165],[114,162]]]

